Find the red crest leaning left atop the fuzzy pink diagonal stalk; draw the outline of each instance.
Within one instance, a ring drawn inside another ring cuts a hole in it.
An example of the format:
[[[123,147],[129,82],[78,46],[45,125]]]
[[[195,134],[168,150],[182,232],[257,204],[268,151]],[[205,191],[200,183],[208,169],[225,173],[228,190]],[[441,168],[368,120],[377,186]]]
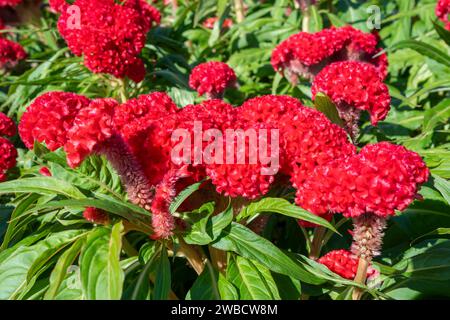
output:
[[[113,116],[118,103],[114,99],[96,99],[80,110],[67,132],[64,150],[71,167],[78,166],[115,133]]]

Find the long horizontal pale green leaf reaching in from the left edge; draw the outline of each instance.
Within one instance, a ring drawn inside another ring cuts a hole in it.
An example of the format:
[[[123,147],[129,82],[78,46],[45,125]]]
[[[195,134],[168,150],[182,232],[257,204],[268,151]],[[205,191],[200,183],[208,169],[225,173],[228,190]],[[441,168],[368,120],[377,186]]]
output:
[[[51,177],[25,178],[0,183],[0,194],[8,193],[60,194],[74,199],[85,198],[85,195],[73,185]]]

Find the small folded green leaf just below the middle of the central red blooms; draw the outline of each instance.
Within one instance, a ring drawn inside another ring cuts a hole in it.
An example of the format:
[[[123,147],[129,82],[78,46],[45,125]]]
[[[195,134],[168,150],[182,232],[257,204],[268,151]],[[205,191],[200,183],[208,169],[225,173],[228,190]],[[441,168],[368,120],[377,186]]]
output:
[[[211,218],[210,215],[200,219],[192,225],[191,231],[184,237],[189,244],[205,245],[216,240],[223,229],[233,221],[233,208],[229,206],[225,211]]]

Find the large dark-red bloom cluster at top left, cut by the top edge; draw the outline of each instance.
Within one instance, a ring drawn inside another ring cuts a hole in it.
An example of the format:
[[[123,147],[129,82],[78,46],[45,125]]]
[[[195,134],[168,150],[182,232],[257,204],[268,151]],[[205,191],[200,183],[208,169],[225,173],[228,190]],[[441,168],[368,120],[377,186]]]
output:
[[[57,4],[55,9],[60,9]],[[123,5],[114,0],[76,0],[72,7],[73,11],[62,11],[58,21],[70,50],[84,55],[85,65],[94,73],[142,81],[145,67],[138,55],[152,23],[159,23],[159,12],[144,0]]]

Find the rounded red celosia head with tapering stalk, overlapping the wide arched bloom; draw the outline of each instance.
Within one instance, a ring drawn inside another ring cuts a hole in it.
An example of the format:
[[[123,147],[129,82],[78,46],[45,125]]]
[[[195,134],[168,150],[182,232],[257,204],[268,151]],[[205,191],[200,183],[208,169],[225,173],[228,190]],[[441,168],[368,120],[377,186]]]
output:
[[[370,114],[372,125],[384,120],[390,109],[389,90],[376,68],[365,62],[332,63],[320,71],[312,84],[313,99],[319,92],[335,103],[345,129],[355,139],[360,113]]]

